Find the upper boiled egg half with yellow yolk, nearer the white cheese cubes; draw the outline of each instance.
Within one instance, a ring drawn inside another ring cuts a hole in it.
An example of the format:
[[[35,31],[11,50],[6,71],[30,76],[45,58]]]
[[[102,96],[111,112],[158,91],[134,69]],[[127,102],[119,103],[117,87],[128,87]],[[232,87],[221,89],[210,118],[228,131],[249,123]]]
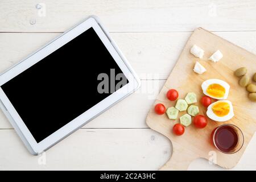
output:
[[[227,82],[219,79],[205,80],[201,85],[203,93],[217,100],[228,98],[230,86]]]

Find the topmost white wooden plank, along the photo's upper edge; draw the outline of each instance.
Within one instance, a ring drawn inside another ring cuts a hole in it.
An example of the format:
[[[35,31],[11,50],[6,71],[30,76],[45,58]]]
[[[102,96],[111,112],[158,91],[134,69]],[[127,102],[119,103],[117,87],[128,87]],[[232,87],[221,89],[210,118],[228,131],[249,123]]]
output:
[[[46,5],[45,16],[37,3]],[[61,32],[88,15],[100,16],[111,32],[249,31],[256,30],[255,8],[249,0],[2,0],[0,32]]]

